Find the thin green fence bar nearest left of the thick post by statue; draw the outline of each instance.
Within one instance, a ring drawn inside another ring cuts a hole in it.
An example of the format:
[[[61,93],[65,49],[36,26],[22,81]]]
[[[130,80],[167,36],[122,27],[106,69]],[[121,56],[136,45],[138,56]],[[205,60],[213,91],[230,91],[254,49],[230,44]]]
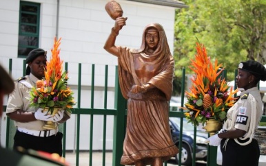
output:
[[[107,93],[108,91],[108,65],[105,65],[105,84],[104,84],[104,106],[107,108]],[[106,149],[106,115],[103,115],[103,166],[105,166],[105,149]]]

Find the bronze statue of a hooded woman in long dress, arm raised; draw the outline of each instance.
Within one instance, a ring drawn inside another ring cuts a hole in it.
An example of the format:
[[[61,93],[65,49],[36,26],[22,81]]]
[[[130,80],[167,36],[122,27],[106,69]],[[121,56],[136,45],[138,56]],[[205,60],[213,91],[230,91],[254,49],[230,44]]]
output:
[[[127,99],[127,128],[121,165],[163,166],[178,153],[170,133],[169,101],[174,59],[165,31],[152,23],[140,49],[114,45],[127,18],[118,16],[104,49],[118,57],[119,83]]]

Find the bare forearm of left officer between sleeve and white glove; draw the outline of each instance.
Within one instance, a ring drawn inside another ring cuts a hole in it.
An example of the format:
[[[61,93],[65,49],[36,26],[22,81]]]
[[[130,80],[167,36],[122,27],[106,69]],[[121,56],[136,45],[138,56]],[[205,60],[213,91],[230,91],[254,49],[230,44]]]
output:
[[[23,122],[23,123],[37,120],[34,117],[34,112],[25,112],[23,110],[16,110],[14,112],[7,113],[7,116],[14,121]]]

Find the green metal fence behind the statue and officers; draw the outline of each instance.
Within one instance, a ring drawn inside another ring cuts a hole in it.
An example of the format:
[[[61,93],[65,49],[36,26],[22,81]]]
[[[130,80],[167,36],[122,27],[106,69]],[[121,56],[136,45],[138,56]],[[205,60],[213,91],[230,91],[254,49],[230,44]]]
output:
[[[112,165],[118,166],[120,164],[120,159],[123,154],[123,139],[125,137],[125,125],[126,125],[126,100],[123,98],[120,88],[119,88],[119,81],[118,81],[118,71],[116,67],[115,71],[115,88],[114,88],[114,108],[108,109],[107,108],[107,100],[108,100],[108,65],[105,65],[105,80],[104,80],[104,101],[103,101],[103,108],[94,108],[94,75],[95,75],[95,64],[92,64],[92,82],[91,82],[91,107],[90,108],[81,108],[81,63],[78,64],[78,84],[77,84],[77,97],[76,97],[76,108],[72,111],[72,115],[76,115],[76,166],[79,165],[79,154],[80,154],[80,126],[81,126],[81,116],[83,115],[90,115],[90,166],[92,166],[92,151],[93,151],[93,124],[94,124],[94,115],[101,115],[103,116],[103,156],[102,156],[102,165],[105,166],[105,153],[106,153],[106,126],[107,126],[107,116],[114,117],[114,134],[113,134],[113,148],[112,148]],[[9,61],[9,70],[12,73],[12,59]],[[65,63],[65,70],[68,71],[68,62]],[[23,75],[25,75],[25,60],[23,61]],[[183,107],[184,104],[184,94],[185,94],[185,69],[183,69],[183,79],[182,79],[182,88],[181,88],[181,106]],[[4,110],[6,110],[6,106],[4,106]],[[183,133],[183,109],[181,108],[178,111],[170,111],[170,117],[181,117],[181,130],[180,132]],[[266,121],[266,117],[264,116],[262,121]],[[63,137],[63,157],[65,157],[65,142],[66,142],[66,128],[68,126],[68,121],[63,123],[63,126],[59,129],[64,133]],[[6,147],[12,147],[12,139],[14,137],[15,128],[13,125],[12,120],[9,118],[7,119],[7,130],[6,130]],[[179,140],[182,140],[182,134],[180,134]],[[178,145],[178,149],[181,150],[182,144]],[[196,128],[194,128],[194,147],[196,149]],[[217,165],[216,164],[216,147],[208,147],[208,157],[207,157],[207,165]],[[179,158],[181,158],[181,153],[178,154]],[[193,158],[196,158],[195,152],[192,154]],[[66,158],[68,161],[68,158]],[[164,163],[167,166],[167,162]],[[181,165],[181,160],[179,160],[178,165]],[[192,165],[196,165],[196,161],[193,159]]]

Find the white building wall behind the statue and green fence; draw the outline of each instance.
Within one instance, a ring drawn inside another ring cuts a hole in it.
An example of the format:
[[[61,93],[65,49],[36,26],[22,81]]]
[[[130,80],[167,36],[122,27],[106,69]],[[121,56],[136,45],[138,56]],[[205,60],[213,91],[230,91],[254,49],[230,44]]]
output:
[[[108,54],[103,45],[108,38],[114,20],[105,12],[108,0],[28,0],[41,3],[40,40],[39,47],[48,51],[52,48],[54,37],[61,39],[61,59],[68,62],[69,84],[76,94],[78,80],[78,65],[81,64],[81,108],[90,108],[90,85],[92,64],[95,64],[95,86],[98,87],[94,97],[94,108],[103,108],[103,78],[104,67],[108,64],[108,108],[114,108],[114,71],[117,64],[116,57]],[[17,58],[19,33],[19,0],[0,1],[0,63],[8,69],[9,59],[12,58],[12,77],[17,79],[23,73],[23,58]],[[57,2],[59,2],[59,19],[57,27]],[[133,1],[117,0],[123,8],[123,16],[127,17],[127,25],[121,29],[116,38],[116,45],[139,48],[143,29],[148,23],[160,23],[165,29],[171,51],[174,46],[174,16],[175,8],[161,5],[152,5]],[[57,34],[58,32],[58,34]],[[5,103],[6,103],[5,99]],[[81,150],[89,148],[88,126],[90,116],[81,118]],[[67,149],[74,147],[74,121],[73,115],[68,121]],[[101,130],[99,122],[102,117],[94,117],[96,128]],[[113,118],[108,117],[112,124]],[[6,123],[3,117],[2,124]],[[3,128],[3,127],[2,127]],[[112,149],[112,125],[108,125],[107,147]],[[3,133],[3,132],[2,132]],[[94,134],[94,150],[101,149],[101,132]],[[4,140],[5,136],[1,136]],[[1,141],[4,144],[4,141]]]

